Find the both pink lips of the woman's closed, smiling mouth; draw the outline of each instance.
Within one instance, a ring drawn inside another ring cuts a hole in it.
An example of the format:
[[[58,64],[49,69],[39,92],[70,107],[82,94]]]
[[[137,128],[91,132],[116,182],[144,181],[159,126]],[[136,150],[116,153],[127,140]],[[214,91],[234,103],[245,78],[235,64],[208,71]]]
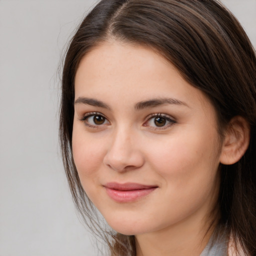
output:
[[[146,196],[157,186],[143,185],[138,183],[116,183],[111,182],[104,185],[106,193],[117,202],[131,202]]]

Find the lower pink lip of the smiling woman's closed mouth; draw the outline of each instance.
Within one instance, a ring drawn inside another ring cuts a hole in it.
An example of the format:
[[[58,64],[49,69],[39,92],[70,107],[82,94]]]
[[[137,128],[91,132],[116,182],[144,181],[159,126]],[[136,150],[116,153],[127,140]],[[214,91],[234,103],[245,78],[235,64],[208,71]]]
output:
[[[156,187],[135,190],[116,190],[106,187],[106,193],[117,202],[132,202],[151,193]]]

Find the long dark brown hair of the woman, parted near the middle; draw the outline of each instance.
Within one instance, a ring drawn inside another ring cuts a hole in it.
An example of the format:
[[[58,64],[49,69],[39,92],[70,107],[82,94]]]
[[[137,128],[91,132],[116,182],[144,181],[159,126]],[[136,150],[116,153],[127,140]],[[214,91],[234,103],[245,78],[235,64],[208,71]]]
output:
[[[81,22],[65,56],[59,126],[64,168],[81,216],[103,235],[111,255],[135,256],[134,236],[100,227],[71,150],[78,64],[87,52],[110,39],[149,46],[170,61],[212,102],[220,134],[236,115],[248,122],[247,151],[238,162],[219,166],[216,227],[224,225],[245,254],[256,255],[255,50],[237,19],[216,0],[101,0]]]

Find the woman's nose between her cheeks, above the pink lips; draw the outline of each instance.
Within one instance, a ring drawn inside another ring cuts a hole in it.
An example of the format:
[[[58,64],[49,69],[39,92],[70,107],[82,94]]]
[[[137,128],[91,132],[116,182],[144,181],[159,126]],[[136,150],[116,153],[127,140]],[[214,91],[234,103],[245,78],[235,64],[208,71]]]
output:
[[[103,163],[119,172],[141,167],[144,157],[137,136],[121,128],[116,131],[111,137]]]

